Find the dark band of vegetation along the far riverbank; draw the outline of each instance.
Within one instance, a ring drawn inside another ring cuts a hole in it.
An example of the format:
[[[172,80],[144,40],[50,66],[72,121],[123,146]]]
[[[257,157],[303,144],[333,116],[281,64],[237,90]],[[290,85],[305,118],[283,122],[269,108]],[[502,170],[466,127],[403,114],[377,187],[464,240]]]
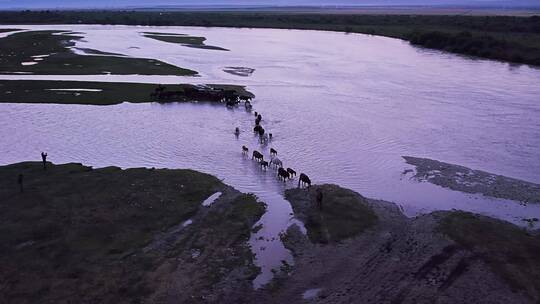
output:
[[[5,11],[3,24],[125,24],[330,30],[540,66],[540,17],[290,12]]]

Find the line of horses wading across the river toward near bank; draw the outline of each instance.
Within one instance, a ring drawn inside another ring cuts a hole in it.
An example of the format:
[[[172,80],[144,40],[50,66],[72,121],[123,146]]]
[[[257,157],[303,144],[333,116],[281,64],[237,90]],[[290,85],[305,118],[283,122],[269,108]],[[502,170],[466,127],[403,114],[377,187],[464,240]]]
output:
[[[246,104],[248,102],[249,101],[246,101]],[[249,104],[249,106],[246,105],[246,109],[248,109],[248,107],[249,109],[251,109],[251,104]],[[268,137],[265,137],[265,130],[260,124],[261,121],[262,121],[262,115],[255,112],[255,127],[253,128],[253,132],[259,135],[259,138],[262,143],[264,141],[271,140],[272,133],[269,133]],[[240,133],[240,130],[237,127],[235,130],[235,134],[238,136],[239,133]],[[249,148],[246,146],[242,146],[242,153],[244,155],[248,155]],[[270,148],[270,161],[265,160],[264,155],[257,150],[253,151],[251,155],[251,159],[257,161],[262,170],[268,170],[269,167],[277,169],[277,177],[280,180],[283,180],[283,182],[286,182],[287,180],[291,180],[294,177],[296,177],[296,171],[294,171],[292,168],[285,169],[283,167],[283,162],[277,157],[277,150],[274,148]],[[304,173],[300,173],[300,175],[298,176],[298,187],[300,186],[302,187],[307,186],[308,188],[311,186],[311,180]]]

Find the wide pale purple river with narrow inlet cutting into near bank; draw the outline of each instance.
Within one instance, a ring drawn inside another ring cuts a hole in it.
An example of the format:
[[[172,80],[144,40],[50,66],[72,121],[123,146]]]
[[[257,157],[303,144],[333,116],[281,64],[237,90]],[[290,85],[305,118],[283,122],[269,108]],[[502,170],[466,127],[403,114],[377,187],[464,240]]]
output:
[[[13,26],[4,26],[13,28]],[[538,205],[450,191],[403,176],[402,155],[427,157],[540,182],[540,70],[470,59],[377,36],[320,31],[137,26],[17,26],[84,33],[78,47],[156,58],[200,77],[0,75],[0,79],[247,85],[274,135],[261,147],[253,114],[221,105],[0,104],[0,164],[38,160],[103,167],[192,168],[268,204],[251,244],[263,274],[291,261],[278,234],[291,222],[284,184],[241,146],[275,148],[286,167],[396,202],[405,214],[463,209],[523,225]],[[143,37],[156,31],[207,37],[203,50]],[[0,34],[4,35],[4,34]],[[226,67],[255,69],[249,77]],[[239,126],[238,138],[233,130]],[[262,237],[262,238],[261,238]]]

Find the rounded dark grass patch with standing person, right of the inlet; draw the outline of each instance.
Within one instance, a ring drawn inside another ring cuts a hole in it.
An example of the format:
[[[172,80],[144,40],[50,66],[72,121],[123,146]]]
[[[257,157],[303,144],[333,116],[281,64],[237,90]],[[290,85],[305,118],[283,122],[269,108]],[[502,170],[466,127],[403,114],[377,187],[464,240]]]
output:
[[[317,206],[317,189],[323,194],[322,210]],[[377,215],[360,194],[334,185],[285,192],[295,215],[304,222],[313,243],[338,242],[375,225]]]

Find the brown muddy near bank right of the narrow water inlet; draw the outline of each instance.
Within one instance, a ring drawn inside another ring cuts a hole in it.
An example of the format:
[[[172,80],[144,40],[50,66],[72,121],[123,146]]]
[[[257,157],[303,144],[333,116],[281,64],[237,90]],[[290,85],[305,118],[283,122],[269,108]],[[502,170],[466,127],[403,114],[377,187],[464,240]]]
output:
[[[377,220],[331,242],[311,238],[310,225],[307,236],[297,226],[289,228],[283,240],[295,256],[295,265],[274,280],[267,303],[536,303],[540,299],[538,231],[460,211],[406,218],[395,204],[335,185],[287,190],[295,217],[311,213],[323,219],[317,230],[335,227],[335,221],[325,220],[324,213],[317,211],[319,189],[323,210],[333,209],[338,202],[334,218],[348,219],[354,212],[344,207],[361,205]]]

